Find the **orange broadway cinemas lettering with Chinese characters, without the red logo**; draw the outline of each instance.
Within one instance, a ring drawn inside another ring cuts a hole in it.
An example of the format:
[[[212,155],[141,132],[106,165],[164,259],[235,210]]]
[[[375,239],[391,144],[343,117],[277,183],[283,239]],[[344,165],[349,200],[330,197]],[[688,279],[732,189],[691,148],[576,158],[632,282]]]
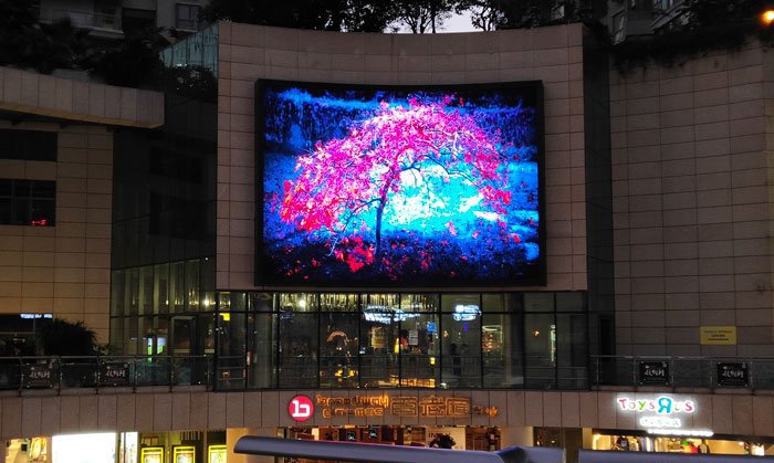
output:
[[[334,417],[496,417],[496,407],[472,406],[469,398],[440,396],[316,396],[323,418]]]

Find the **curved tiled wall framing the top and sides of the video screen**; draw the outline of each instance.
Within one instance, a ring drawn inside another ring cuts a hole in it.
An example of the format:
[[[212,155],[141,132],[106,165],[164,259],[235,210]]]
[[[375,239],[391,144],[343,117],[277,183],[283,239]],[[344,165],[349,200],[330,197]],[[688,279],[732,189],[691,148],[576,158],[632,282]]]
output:
[[[543,81],[546,290],[586,288],[583,27],[459,34],[300,31],[222,22],[218,288],[253,290],[255,80],[352,84]]]

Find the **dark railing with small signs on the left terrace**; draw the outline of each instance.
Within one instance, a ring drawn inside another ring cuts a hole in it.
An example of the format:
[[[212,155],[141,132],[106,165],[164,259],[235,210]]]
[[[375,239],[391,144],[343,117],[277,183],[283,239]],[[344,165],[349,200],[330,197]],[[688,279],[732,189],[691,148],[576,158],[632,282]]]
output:
[[[0,390],[205,386],[211,356],[0,357]]]

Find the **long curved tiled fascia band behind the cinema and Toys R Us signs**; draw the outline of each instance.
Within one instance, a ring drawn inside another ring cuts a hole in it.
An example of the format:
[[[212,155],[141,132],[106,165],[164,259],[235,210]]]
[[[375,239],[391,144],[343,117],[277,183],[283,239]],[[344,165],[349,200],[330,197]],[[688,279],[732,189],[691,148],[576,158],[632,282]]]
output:
[[[40,392],[42,393],[42,392]],[[349,396],[431,396],[432,391],[250,391],[206,392],[168,390],[159,392],[80,396],[4,396],[0,399],[0,439],[85,433],[94,431],[184,431],[205,429],[263,429],[292,427],[287,403],[296,393],[333,397]],[[472,418],[356,418],[323,419],[321,413],[304,425],[496,425],[515,428],[506,432],[508,443],[527,439],[524,427],[598,428],[642,430],[640,413],[623,411],[621,396],[653,399],[656,392],[556,392],[556,391],[456,391],[440,397],[469,397],[471,403],[495,407],[496,417]],[[751,394],[670,394],[676,400],[692,400],[693,413],[679,415],[682,428],[711,430],[715,434],[774,436],[774,398]],[[642,413],[644,414],[644,413]]]

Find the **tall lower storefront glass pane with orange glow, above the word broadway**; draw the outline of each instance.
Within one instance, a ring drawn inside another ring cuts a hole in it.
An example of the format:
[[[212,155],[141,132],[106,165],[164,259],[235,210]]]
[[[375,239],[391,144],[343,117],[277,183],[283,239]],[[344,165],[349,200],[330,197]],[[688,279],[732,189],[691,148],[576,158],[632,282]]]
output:
[[[339,388],[358,385],[357,312],[324,312],[320,319],[320,387]]]

